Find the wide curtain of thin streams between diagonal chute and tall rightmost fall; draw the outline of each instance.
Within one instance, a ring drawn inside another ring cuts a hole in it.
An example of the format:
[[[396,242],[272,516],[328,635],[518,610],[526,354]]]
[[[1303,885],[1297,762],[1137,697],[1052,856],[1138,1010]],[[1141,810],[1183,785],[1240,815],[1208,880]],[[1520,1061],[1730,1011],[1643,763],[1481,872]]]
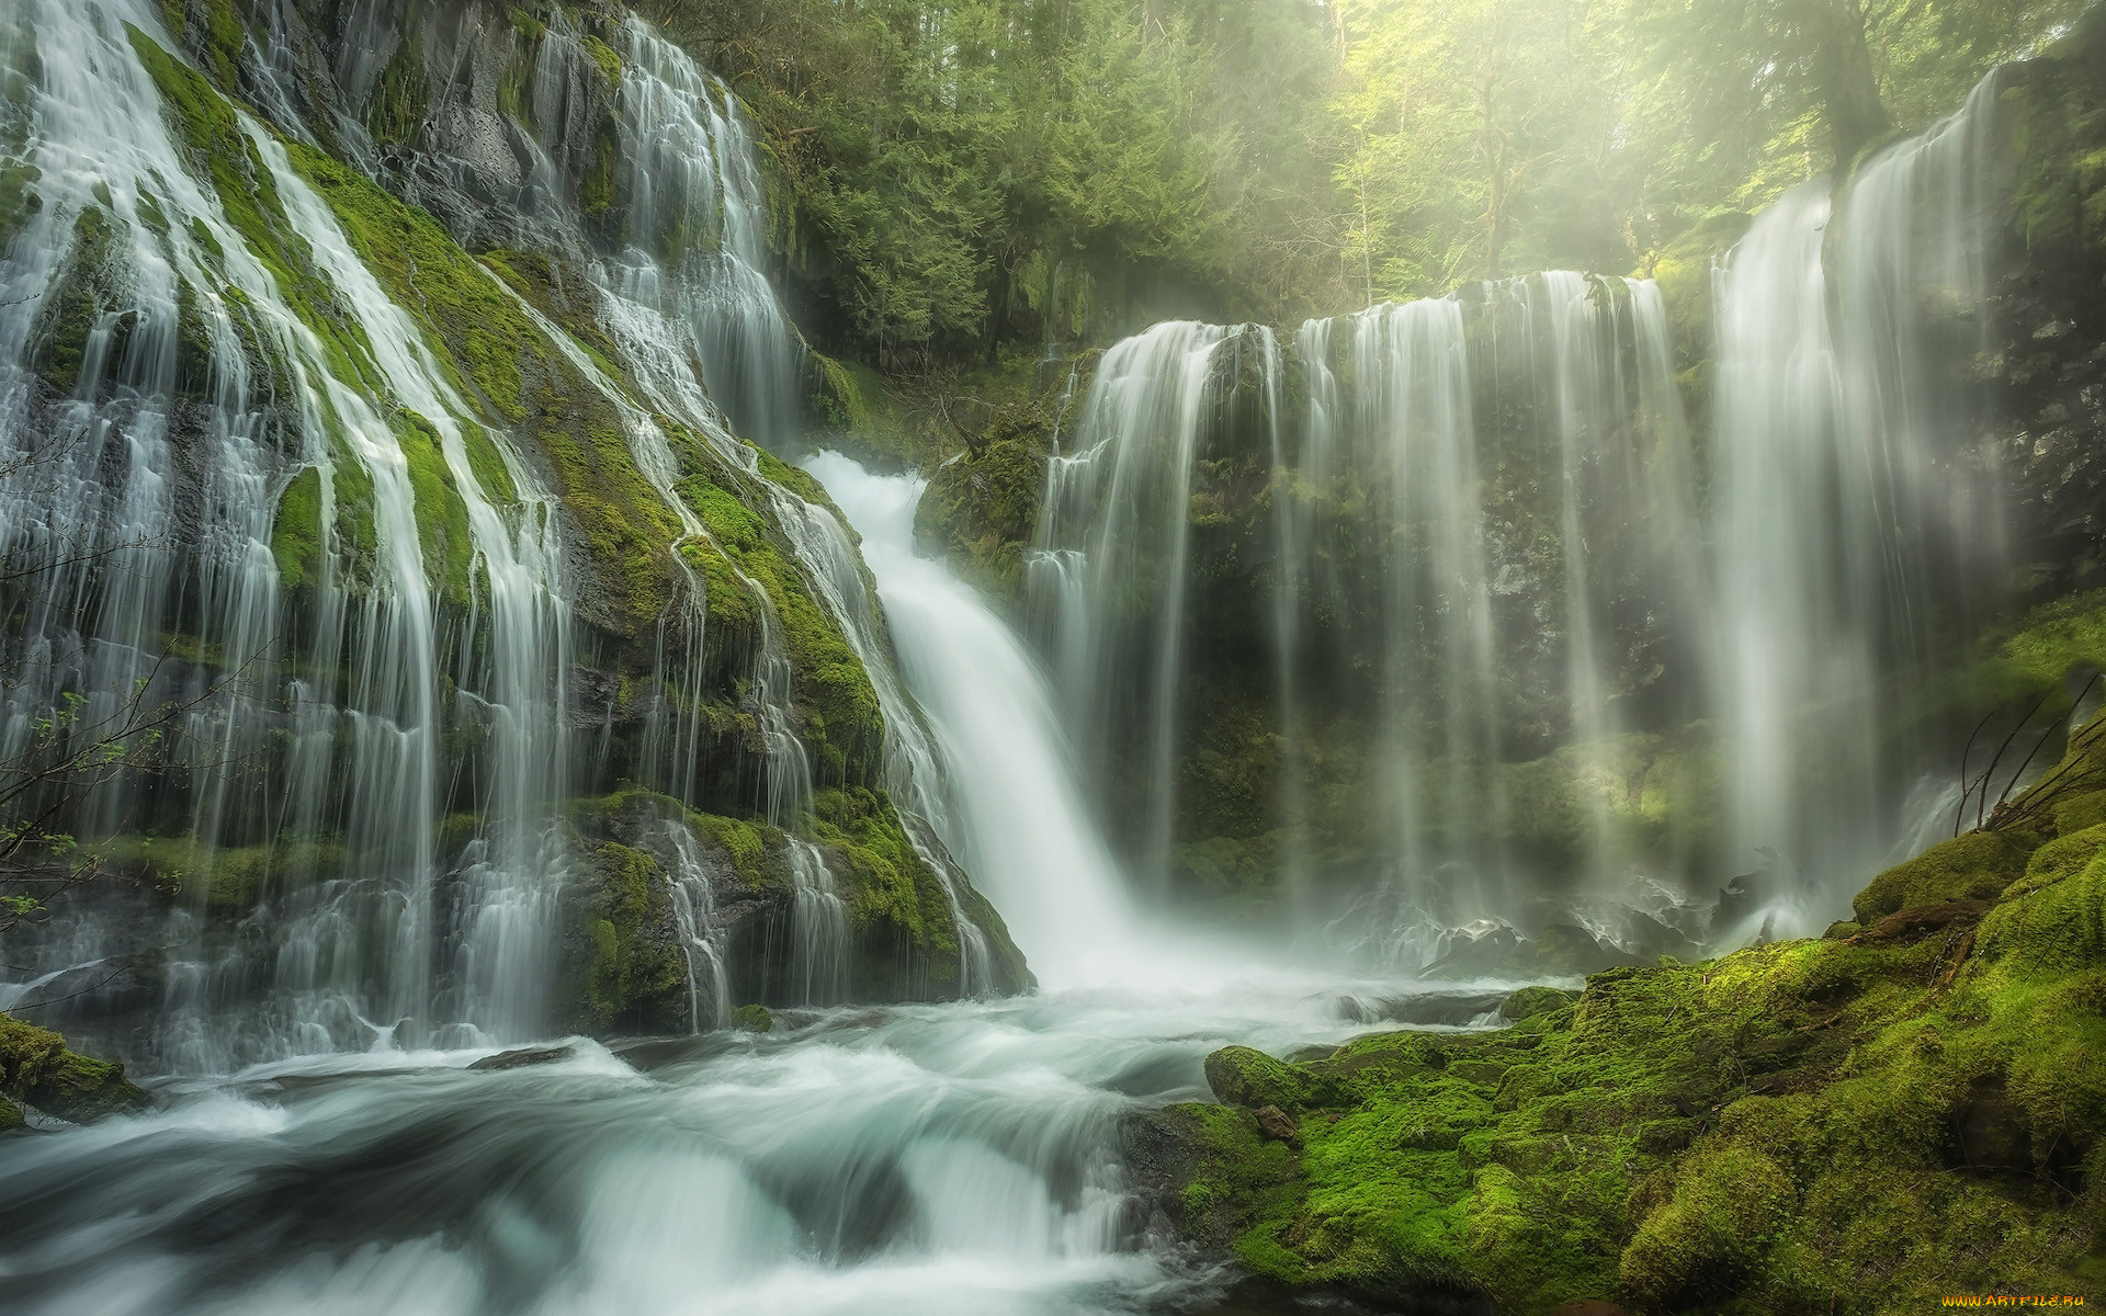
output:
[[[1106,354],[1072,448],[1049,461],[1028,579],[1087,775],[1150,802],[1129,828],[1146,872],[1188,863],[1203,836],[1175,830],[1173,764],[1207,712],[1179,689],[1207,670],[1181,649],[1205,615],[1213,644],[1249,653],[1249,627],[1270,651],[1278,832],[1261,855],[1302,916],[1320,870],[1354,868],[1400,901],[1354,916],[1354,939],[1426,962],[1432,943],[1390,922],[1453,929],[1647,876],[1620,817],[1620,710],[1638,691],[1615,659],[1708,653],[1695,472],[1651,282],[1506,280],[1310,320],[1291,352],[1257,328],[1163,324]],[[1215,529],[1245,510],[1264,537]],[[1264,606],[1245,619],[1251,594]],[[1523,665],[1542,707],[1514,705]],[[1310,754],[1360,729],[1365,840],[1346,855]],[[1577,874],[1508,842],[1516,809],[1542,811],[1512,800],[1531,737],[1573,745]]]

